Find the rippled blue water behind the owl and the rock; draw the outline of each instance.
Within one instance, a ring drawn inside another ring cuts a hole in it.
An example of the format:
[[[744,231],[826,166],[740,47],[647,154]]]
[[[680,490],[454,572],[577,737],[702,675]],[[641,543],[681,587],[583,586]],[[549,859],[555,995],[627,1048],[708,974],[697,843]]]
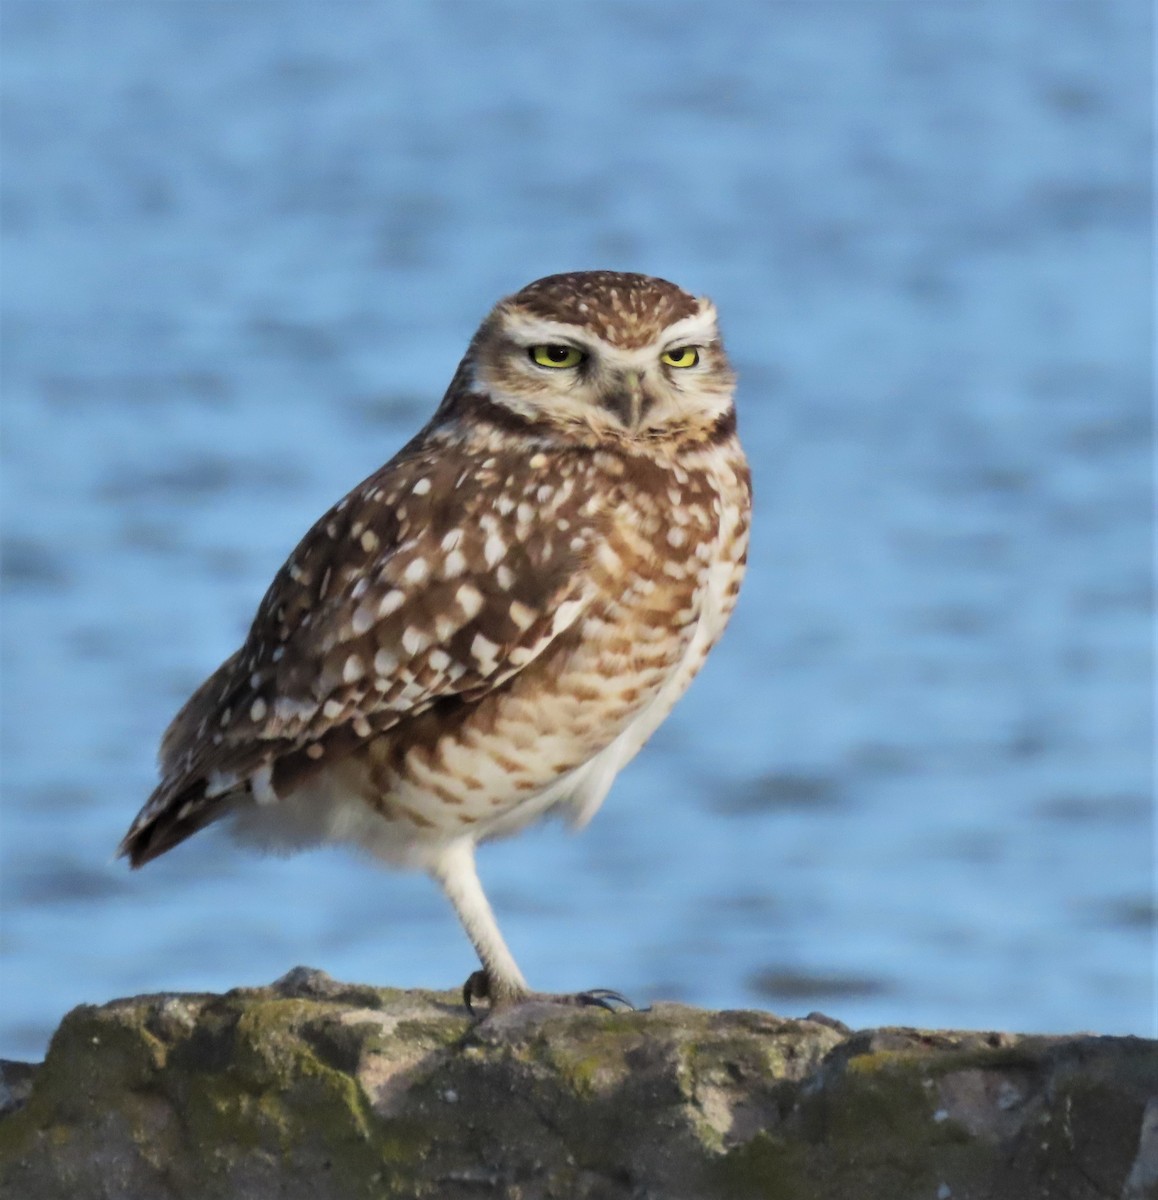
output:
[[[307,526],[560,270],[712,295],[733,625],[578,838],[535,986],[1154,1033],[1145,0],[4,0],[2,1003],[473,968],[420,876],[113,862]]]

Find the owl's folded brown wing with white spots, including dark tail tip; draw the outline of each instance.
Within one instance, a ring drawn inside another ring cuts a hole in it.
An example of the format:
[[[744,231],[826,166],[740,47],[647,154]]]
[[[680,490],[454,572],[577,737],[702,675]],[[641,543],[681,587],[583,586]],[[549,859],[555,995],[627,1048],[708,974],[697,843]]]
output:
[[[162,742],[121,845],[148,862],[274,770],[307,770],[434,703],[476,701],[590,599],[598,512],[542,455],[409,449],[330,510],[278,572],[245,646]]]

